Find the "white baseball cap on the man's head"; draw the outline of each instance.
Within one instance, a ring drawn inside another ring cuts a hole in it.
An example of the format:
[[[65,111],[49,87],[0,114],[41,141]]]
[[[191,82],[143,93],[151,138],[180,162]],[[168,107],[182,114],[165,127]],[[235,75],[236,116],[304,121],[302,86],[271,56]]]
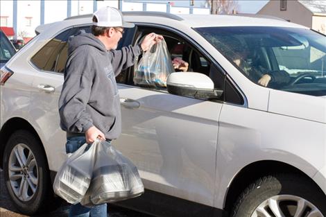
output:
[[[132,28],[135,24],[127,23],[123,21],[122,13],[117,8],[104,7],[99,10],[96,10],[93,14],[97,23],[93,23],[94,26],[103,26],[103,27],[117,27],[121,26],[123,28]]]

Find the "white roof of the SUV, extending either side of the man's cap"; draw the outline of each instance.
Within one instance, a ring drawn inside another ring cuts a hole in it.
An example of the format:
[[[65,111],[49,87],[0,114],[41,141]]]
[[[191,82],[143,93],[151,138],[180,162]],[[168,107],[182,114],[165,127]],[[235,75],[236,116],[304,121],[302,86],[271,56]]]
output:
[[[264,15],[173,15],[166,12],[123,12],[125,21],[135,23],[150,23],[170,25],[182,25],[189,28],[209,27],[209,26],[277,26],[289,28],[308,28],[299,24],[293,24],[289,21],[277,17]],[[150,19],[149,19],[150,18]],[[92,24],[92,14],[68,17],[64,21],[58,21],[53,24],[60,24],[62,28],[68,26]],[[53,24],[44,24],[37,26],[35,33],[39,34],[44,29]]]

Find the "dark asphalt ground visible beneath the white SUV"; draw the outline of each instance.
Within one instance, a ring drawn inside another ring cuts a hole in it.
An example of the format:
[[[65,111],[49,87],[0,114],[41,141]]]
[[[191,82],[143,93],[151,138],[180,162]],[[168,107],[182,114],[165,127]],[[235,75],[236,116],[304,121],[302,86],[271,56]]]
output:
[[[67,217],[69,211],[69,204],[63,203],[61,207],[48,214],[38,215],[34,217]],[[146,214],[141,214],[137,211],[108,205],[108,216],[110,217],[153,217]],[[0,217],[26,217],[19,214],[19,211],[12,204],[8,195],[7,189],[3,182],[3,171],[0,169]]]

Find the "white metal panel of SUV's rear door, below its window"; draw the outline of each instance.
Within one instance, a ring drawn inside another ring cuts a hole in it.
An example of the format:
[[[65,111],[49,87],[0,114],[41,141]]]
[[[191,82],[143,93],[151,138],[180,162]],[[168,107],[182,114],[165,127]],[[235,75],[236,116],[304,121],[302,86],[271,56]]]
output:
[[[63,75],[59,73],[49,73],[37,71],[34,75],[31,91],[31,101],[33,108],[29,112],[33,120],[33,126],[39,134],[44,146],[46,157],[49,162],[49,168],[52,171],[58,171],[60,164],[67,159],[65,152],[66,134],[60,127],[60,118],[58,116],[58,100],[62,89]],[[40,85],[54,87],[54,92],[46,92],[40,88]],[[52,153],[57,153],[53,155]]]

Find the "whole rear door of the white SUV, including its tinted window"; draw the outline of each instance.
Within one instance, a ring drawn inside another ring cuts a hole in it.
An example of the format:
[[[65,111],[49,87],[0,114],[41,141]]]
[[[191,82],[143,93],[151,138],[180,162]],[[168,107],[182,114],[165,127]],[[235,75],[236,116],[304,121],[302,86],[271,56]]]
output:
[[[66,159],[65,143],[66,134],[60,129],[60,118],[58,114],[58,100],[60,97],[63,73],[67,62],[67,41],[71,35],[76,35],[80,29],[90,32],[89,26],[71,27],[56,35],[37,51],[31,63],[37,68],[33,80],[33,92],[31,101],[33,109],[30,111],[34,118],[38,132],[46,146],[50,170],[58,171],[62,162]],[[58,153],[59,155],[51,155]]]

